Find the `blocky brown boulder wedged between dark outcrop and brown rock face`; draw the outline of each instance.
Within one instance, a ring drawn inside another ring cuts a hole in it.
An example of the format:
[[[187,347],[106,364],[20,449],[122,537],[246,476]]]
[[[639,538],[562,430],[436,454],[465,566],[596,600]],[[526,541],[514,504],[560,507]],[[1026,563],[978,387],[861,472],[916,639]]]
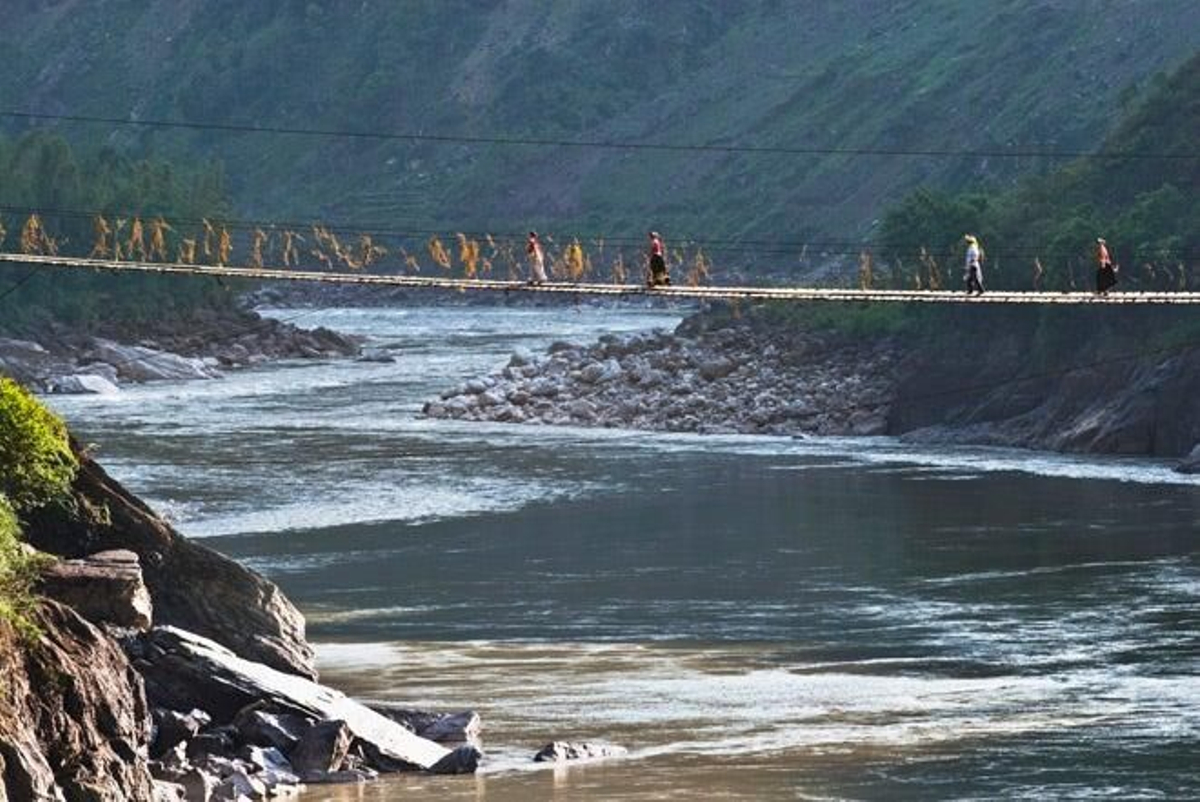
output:
[[[95,624],[149,629],[154,616],[138,556],[127,549],[55,562],[38,589]]]

